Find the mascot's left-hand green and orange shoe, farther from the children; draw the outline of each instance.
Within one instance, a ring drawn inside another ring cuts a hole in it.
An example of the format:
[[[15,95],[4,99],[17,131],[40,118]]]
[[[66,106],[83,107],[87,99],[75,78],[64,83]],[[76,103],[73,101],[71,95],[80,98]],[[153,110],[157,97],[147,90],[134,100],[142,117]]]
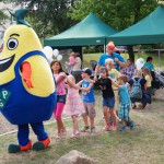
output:
[[[19,144],[10,144],[8,148],[9,153],[17,153],[21,151],[27,151],[32,149],[32,141],[30,141],[26,145],[19,145]]]

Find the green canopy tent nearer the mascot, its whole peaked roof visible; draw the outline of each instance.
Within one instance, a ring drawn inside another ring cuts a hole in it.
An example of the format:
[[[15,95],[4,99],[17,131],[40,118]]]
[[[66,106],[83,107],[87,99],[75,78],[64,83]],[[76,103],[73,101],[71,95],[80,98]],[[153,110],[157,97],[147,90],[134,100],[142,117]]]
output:
[[[77,25],[59,35],[46,38],[44,45],[51,47],[106,45],[108,37],[117,32],[90,13]]]

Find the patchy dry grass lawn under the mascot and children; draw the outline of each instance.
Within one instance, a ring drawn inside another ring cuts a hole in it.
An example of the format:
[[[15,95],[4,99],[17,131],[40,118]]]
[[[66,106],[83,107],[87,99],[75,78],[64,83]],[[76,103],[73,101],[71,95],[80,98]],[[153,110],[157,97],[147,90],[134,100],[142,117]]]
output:
[[[164,94],[163,90],[156,93],[156,99],[152,103],[151,109],[131,110],[131,118],[134,120],[133,130],[126,131],[103,131],[104,120],[102,119],[102,96],[95,91],[96,96],[96,133],[84,133],[79,138],[70,139],[72,122],[65,120],[67,136],[63,140],[56,140],[56,122],[45,126],[51,144],[47,150],[35,152],[28,151],[16,154],[7,152],[8,145],[16,142],[16,133],[0,138],[0,163],[1,164],[52,164],[60,156],[71,150],[81,151],[97,164],[163,164],[164,161]],[[82,119],[80,127],[83,127]],[[31,132],[31,139],[36,137]]]

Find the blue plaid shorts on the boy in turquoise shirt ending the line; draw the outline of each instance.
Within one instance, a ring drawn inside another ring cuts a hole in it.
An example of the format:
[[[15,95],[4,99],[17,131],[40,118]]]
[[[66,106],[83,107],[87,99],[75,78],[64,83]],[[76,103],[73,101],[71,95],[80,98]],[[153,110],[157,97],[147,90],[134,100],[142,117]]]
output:
[[[129,112],[130,112],[131,105],[130,104],[120,104],[119,110],[118,110],[118,117],[119,119],[124,119],[125,121],[128,120]]]

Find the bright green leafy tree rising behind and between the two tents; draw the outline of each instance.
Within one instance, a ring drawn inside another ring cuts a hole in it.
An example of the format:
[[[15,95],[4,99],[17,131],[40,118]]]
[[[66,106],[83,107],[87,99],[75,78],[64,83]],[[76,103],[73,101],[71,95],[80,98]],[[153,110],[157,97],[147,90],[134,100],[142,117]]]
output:
[[[103,22],[122,31],[150,14],[157,7],[156,0],[81,0],[69,9],[68,16],[80,21],[93,12]],[[132,47],[128,46],[133,60]]]

